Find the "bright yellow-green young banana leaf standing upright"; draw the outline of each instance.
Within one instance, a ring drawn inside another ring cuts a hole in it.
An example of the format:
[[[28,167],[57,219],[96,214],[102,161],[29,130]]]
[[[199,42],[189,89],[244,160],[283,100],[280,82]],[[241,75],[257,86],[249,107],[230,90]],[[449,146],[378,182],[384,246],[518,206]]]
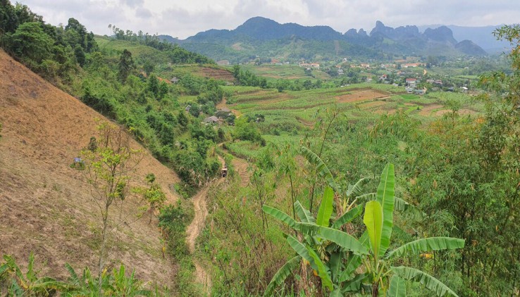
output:
[[[378,201],[369,201],[365,206],[363,222],[369,232],[370,247],[376,259],[380,254],[381,234],[383,232],[383,208]]]

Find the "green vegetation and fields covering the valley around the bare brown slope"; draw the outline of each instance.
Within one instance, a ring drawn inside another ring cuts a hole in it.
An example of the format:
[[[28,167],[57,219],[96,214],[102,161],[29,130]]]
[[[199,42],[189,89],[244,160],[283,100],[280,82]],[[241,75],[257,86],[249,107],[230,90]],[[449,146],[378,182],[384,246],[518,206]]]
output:
[[[405,78],[394,74],[389,76],[395,86],[345,86],[383,74],[350,66],[343,77],[333,66],[321,72],[334,77],[327,82],[316,79],[314,70],[304,72],[305,79],[284,80],[236,66],[230,86],[194,74],[201,63],[216,68],[209,58],[155,35],[111,26],[113,37],[96,37],[73,18],[54,27],[27,6],[0,3],[2,48],[127,128],[178,172],[178,194],[187,198],[220,175],[216,155],[225,158],[230,178],[209,189],[209,226],[196,251],[211,272],[213,295],[403,296],[396,286],[407,289],[407,296],[518,292],[518,26],[496,32],[515,46],[508,57],[512,67],[476,77],[502,62],[468,62],[477,67],[470,73],[465,65],[454,70],[459,62],[429,57],[425,69],[408,75],[428,69],[428,78],[442,77],[445,84],[423,82],[431,92],[419,97],[402,94]],[[445,92],[463,86],[480,93]],[[338,99],[359,89],[375,90],[380,100]],[[242,115],[220,114],[231,125],[202,124],[218,115],[224,98]],[[388,112],[371,113],[365,103],[381,103]],[[431,109],[435,116],[421,114],[430,106],[438,106]],[[217,146],[222,142],[224,148]],[[233,172],[233,158],[247,159],[248,171]],[[385,183],[392,184],[392,193],[380,191]],[[112,198],[121,198],[118,186]],[[153,176],[135,194],[149,203],[150,213],[161,209],[162,239],[179,267],[171,291],[144,288],[133,275],[125,276],[124,267],[112,274],[99,269],[96,278],[88,268],[78,275],[68,265],[70,279],[62,282],[37,275],[32,265],[22,273],[4,255],[0,292],[197,293],[185,243],[193,218],[187,200],[163,206]]]

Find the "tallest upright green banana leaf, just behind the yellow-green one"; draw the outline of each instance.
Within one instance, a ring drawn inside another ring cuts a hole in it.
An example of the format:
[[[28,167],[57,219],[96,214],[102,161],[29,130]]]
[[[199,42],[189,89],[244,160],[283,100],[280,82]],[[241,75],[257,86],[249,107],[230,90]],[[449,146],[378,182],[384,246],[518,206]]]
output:
[[[376,201],[383,206],[383,232],[381,233],[381,245],[379,248],[379,257],[385,255],[388,246],[390,246],[390,237],[392,236],[393,212],[394,212],[394,165],[388,163],[381,173],[381,179],[378,186]]]

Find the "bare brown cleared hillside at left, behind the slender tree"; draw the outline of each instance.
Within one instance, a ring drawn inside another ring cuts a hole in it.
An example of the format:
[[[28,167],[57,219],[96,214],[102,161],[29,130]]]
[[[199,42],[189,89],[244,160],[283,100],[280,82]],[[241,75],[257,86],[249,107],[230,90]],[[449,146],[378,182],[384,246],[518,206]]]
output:
[[[106,120],[0,50],[0,254],[14,255],[25,266],[33,251],[37,263],[47,262],[44,273],[58,278],[68,277],[66,262],[77,271],[85,265],[97,271],[100,219],[82,173],[69,168],[95,134],[94,118]],[[141,148],[135,141],[132,146]],[[149,172],[168,201],[175,201],[168,190],[179,181],[175,172],[145,153],[135,176],[144,180]],[[138,201],[127,200],[123,216],[129,224],[113,232],[118,242],[109,258],[135,268],[144,281],[169,284],[173,271],[161,253],[156,222],[133,222]]]

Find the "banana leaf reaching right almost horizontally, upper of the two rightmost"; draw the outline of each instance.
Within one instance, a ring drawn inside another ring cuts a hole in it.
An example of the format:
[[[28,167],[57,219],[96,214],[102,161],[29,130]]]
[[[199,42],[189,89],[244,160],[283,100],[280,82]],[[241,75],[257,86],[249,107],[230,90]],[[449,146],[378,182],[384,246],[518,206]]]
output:
[[[399,257],[401,255],[416,255],[426,251],[454,250],[464,248],[464,239],[452,237],[430,237],[411,241],[399,248],[390,251],[386,258]]]

